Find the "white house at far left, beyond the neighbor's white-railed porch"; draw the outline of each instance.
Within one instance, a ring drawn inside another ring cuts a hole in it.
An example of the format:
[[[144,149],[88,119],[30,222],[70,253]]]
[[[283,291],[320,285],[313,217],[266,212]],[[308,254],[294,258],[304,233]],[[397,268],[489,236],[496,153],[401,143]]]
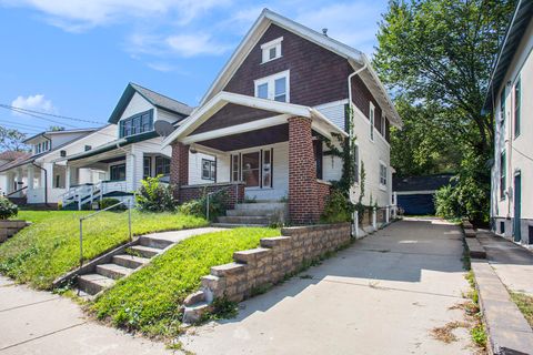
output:
[[[19,203],[57,204],[66,192],[66,165],[61,162],[68,154],[90,150],[105,138],[99,132],[107,129],[74,129],[46,131],[24,141],[31,153],[0,166],[0,179],[6,183],[6,195]],[[80,171],[81,181],[94,180],[91,170]]]

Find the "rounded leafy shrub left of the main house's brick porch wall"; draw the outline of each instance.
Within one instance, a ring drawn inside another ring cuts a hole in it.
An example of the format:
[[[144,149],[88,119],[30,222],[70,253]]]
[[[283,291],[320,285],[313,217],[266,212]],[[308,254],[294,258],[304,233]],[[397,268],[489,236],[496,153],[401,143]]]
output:
[[[174,189],[163,185],[159,179],[147,178],[141,181],[141,187],[135,192],[135,202],[142,212],[172,212],[175,211]]]

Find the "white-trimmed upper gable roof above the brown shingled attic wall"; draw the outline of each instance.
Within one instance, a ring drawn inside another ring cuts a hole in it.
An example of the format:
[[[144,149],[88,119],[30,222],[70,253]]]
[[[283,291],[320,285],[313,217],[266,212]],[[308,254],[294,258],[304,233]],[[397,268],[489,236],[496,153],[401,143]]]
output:
[[[319,33],[301,23],[292,21],[281,14],[278,14],[269,9],[263,9],[261,16],[255,20],[252,28],[248,31],[239,47],[235,49],[229,61],[219,72],[217,79],[213,81],[207,93],[203,95],[200,106],[211,100],[218,92],[222,91],[225,84],[233,77],[241,63],[261,39],[263,33],[271,24],[276,24],[288,31],[291,31],[318,45],[321,45],[342,58],[345,58],[354,70],[365,68],[366,70],[360,73],[363,82],[369,87],[372,94],[375,97],[382,109],[385,111],[388,118],[394,125],[401,125],[402,120],[392,103],[389,93],[378,78],[378,74],[372,69],[372,65],[366,55],[356,49],[351,48],[342,42],[339,42],[328,36]],[[346,78],[348,80],[348,78]]]

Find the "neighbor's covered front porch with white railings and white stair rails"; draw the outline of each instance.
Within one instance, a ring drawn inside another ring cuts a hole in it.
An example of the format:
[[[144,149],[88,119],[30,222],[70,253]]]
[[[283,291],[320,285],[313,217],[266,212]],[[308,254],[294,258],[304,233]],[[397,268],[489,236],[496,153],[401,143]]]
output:
[[[105,197],[132,201],[143,179],[170,179],[170,156],[164,153],[159,144],[143,142],[125,146],[113,143],[68,156],[63,206],[73,203],[81,209]],[[86,170],[92,172],[89,180],[82,173]]]

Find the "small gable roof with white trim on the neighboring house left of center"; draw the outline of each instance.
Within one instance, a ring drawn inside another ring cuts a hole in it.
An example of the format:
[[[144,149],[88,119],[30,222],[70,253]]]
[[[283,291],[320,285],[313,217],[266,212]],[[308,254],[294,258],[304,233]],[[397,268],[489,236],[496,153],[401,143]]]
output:
[[[183,116],[188,116],[192,112],[192,108],[184,104],[183,102],[177,101],[155,91],[130,82],[125,87],[122,97],[120,97],[119,103],[111,113],[111,116],[109,118],[109,123],[119,122],[120,116],[124,112],[125,108],[130,103],[130,100],[131,98],[133,98],[133,94],[135,92],[158,109],[163,109]]]

